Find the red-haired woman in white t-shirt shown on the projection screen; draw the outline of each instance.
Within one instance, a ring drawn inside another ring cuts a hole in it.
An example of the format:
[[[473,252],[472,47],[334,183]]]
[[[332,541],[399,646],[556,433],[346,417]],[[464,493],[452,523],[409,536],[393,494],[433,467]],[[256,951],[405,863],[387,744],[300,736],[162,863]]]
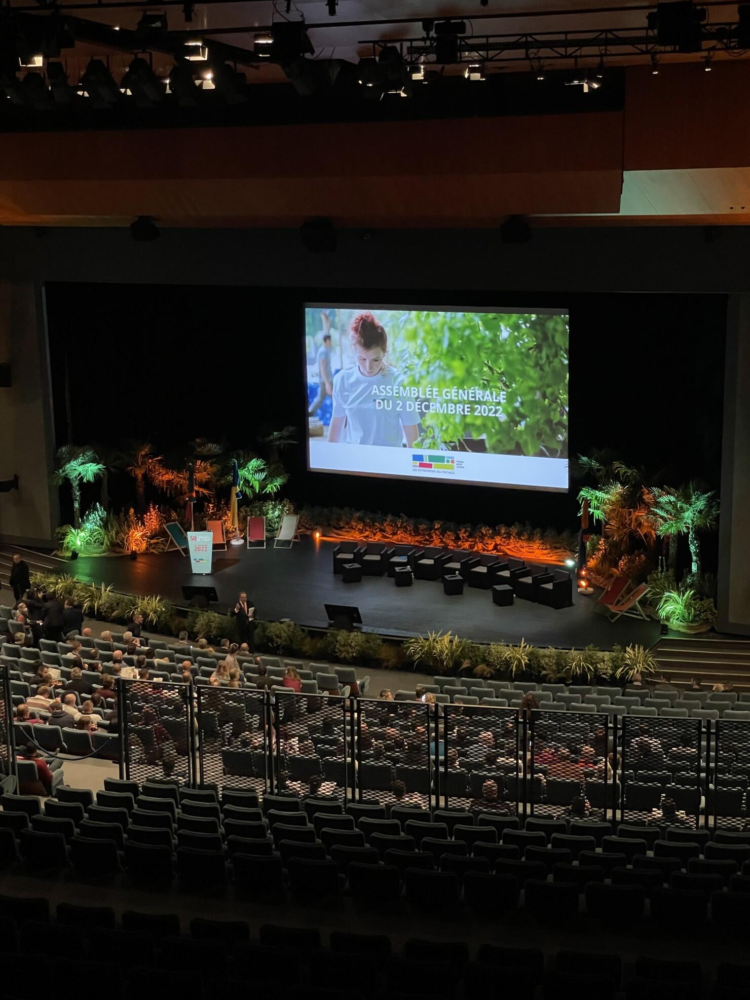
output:
[[[397,399],[373,393],[375,387],[395,385],[398,380],[398,372],[385,360],[388,334],[372,313],[366,312],[352,320],[350,338],[355,364],[333,379],[328,440],[400,448],[405,438],[407,447],[411,447],[417,439],[418,414],[405,409],[399,412]],[[378,408],[378,399],[387,401],[390,408]]]

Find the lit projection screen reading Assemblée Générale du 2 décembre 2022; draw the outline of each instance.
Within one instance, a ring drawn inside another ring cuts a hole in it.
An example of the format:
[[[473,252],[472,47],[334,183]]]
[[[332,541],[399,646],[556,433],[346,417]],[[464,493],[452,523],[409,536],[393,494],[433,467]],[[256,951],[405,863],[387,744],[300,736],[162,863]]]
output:
[[[568,315],[305,308],[317,472],[568,488]]]

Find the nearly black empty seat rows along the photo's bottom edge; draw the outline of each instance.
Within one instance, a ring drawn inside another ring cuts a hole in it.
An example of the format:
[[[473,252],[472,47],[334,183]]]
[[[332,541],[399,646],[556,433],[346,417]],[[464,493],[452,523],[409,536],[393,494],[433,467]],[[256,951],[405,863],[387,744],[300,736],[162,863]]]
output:
[[[750,965],[719,963],[709,972],[694,959],[637,957],[509,947],[472,947],[462,940],[410,937],[402,947],[387,934],[334,930],[327,944],[316,927],[264,924],[251,934],[244,921],[190,920],[182,934],[177,914],[126,910],[118,922],[107,906],[60,903],[50,919],[44,898],[0,896],[3,995],[64,992],[65,976],[106,984],[108,996],[234,994],[248,986],[305,1000],[519,995],[560,1000],[590,995],[613,1000],[713,1000],[747,996]],[[65,941],[53,959],[49,940]],[[33,974],[30,975],[30,968]],[[77,975],[80,974],[80,975]],[[31,990],[30,990],[31,985]],[[537,993],[537,990],[540,992]]]

